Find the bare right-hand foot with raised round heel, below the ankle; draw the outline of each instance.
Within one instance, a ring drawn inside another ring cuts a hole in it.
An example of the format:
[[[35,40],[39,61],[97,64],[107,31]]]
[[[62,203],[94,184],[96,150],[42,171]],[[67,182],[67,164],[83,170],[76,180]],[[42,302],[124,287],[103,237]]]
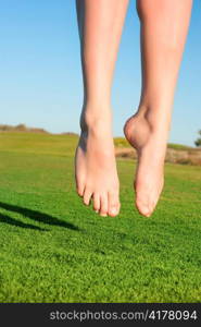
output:
[[[149,113],[138,111],[124,126],[128,142],[138,153],[135,190],[139,213],[150,217],[164,185],[167,129],[153,128]]]

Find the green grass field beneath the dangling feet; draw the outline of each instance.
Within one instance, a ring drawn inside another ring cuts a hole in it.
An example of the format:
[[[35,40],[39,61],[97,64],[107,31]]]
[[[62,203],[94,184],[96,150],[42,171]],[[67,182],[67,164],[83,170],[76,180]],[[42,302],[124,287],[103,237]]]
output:
[[[76,136],[0,133],[0,302],[200,302],[201,167],[166,165],[151,218],[117,161],[122,211],[75,193]]]

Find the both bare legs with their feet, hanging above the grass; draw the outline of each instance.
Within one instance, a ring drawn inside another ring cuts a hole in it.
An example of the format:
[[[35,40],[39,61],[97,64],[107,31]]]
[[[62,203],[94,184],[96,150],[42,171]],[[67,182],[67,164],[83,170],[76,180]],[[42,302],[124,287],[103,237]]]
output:
[[[101,216],[120,211],[112,138],[111,86],[128,0],[77,0],[84,105],[75,155],[77,193]],[[142,88],[137,112],[124,126],[137,149],[136,206],[149,217],[163,189],[173,97],[192,0],[139,0]]]

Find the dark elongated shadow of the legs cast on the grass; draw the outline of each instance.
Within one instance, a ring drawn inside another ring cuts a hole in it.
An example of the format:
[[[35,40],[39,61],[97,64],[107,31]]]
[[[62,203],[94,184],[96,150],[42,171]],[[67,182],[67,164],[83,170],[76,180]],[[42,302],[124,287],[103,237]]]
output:
[[[78,227],[76,227],[75,225],[73,225],[71,222],[60,220],[60,219],[58,219],[53,216],[50,216],[48,214],[43,214],[43,213],[40,213],[40,211],[37,211],[37,210],[33,210],[33,209],[28,209],[28,208],[24,208],[24,207],[18,207],[18,206],[2,203],[2,202],[0,202],[0,207],[5,209],[5,210],[17,213],[17,214],[21,214],[23,216],[26,216],[26,217],[28,217],[28,218],[30,218],[35,221],[39,221],[39,222],[43,222],[43,223],[52,225],[52,226],[60,226],[60,227],[68,228],[68,229],[72,229],[72,230],[79,230]],[[10,218],[8,216],[0,216],[0,221],[2,221],[2,217],[5,217],[5,220],[8,218]],[[10,218],[10,219],[14,220],[12,218]],[[14,220],[14,221],[16,222],[17,220]],[[17,221],[17,223],[18,222],[20,221]],[[23,223],[23,222],[20,222],[20,223]],[[14,223],[11,223],[11,225],[14,225]],[[28,225],[28,226],[32,226],[32,225]],[[33,228],[35,228],[35,226],[33,226]],[[39,228],[36,227],[36,229],[39,229]]]

